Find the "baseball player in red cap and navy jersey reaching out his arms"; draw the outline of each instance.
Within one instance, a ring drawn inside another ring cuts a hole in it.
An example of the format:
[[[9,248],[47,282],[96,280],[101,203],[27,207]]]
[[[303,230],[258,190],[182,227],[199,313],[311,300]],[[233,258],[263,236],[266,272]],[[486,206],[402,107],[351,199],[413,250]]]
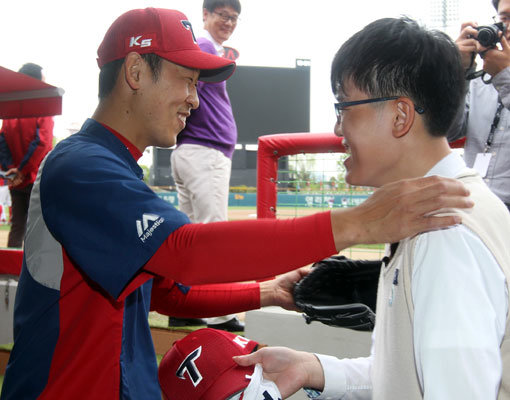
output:
[[[98,49],[99,104],[43,161],[33,188],[2,399],[160,399],[150,309],[207,317],[291,302],[275,276],[358,242],[448,226],[473,205],[464,185],[388,185],[348,210],[288,220],[190,224],[142,180],[147,146],[169,147],[196,109],[197,81],[233,61],[206,54],[186,16],[137,9]],[[190,287],[190,285],[193,285]],[[204,286],[200,286],[204,285]]]

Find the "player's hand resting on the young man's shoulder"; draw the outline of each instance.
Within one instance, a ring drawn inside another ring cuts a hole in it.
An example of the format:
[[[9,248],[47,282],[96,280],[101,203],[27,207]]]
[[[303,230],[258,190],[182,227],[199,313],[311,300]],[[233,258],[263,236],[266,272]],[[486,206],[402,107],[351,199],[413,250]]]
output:
[[[405,179],[377,189],[351,209],[331,211],[337,250],[360,243],[393,243],[417,233],[461,222],[459,216],[435,217],[444,208],[470,208],[469,191],[458,180],[430,176]]]

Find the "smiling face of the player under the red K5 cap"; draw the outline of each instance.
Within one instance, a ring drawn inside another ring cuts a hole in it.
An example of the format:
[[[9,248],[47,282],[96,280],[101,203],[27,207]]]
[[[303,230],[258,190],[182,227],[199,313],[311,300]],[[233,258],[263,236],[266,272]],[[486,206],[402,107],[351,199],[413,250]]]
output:
[[[146,79],[144,96],[145,140],[147,146],[170,147],[186,126],[186,118],[198,107],[199,71],[162,60],[157,80]]]

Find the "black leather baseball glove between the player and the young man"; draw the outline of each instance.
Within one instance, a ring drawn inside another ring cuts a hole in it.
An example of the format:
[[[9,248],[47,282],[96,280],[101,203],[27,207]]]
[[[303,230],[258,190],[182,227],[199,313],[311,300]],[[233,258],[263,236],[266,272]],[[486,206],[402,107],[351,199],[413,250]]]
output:
[[[294,302],[306,323],[371,331],[382,261],[333,256],[315,263],[294,286]]]

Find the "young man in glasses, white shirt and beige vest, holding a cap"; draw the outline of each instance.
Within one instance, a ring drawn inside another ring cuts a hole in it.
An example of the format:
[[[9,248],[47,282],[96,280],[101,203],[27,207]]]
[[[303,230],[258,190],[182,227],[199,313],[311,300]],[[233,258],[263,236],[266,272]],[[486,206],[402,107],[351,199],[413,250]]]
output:
[[[405,17],[377,20],[340,48],[331,83],[349,184],[454,177],[476,205],[462,225],[387,246],[370,356],[264,348],[236,360],[261,363],[283,398],[307,387],[321,399],[510,399],[510,214],[448,145],[464,85],[455,44]]]

